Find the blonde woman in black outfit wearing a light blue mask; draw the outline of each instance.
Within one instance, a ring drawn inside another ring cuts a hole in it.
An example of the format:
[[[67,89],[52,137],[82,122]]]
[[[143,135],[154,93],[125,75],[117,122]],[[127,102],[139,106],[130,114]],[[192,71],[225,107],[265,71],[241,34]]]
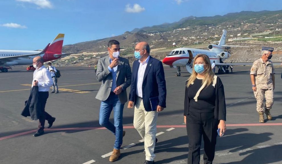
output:
[[[194,58],[192,75],[186,82],[184,120],[189,138],[188,164],[200,163],[202,136],[204,163],[214,159],[217,129],[226,131],[226,105],[220,78],[215,76],[207,55]]]

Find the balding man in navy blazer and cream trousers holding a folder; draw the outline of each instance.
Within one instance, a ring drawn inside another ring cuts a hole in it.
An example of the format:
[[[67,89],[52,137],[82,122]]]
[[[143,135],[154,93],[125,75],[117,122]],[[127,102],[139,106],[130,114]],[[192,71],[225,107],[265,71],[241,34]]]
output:
[[[150,46],[140,42],[135,46],[135,60],[132,67],[131,88],[128,108],[134,109],[134,128],[144,139],[146,161],[154,163],[158,112],[164,110],[166,86],[164,67],[160,60],[150,56]],[[155,109],[151,107],[150,98],[158,101]],[[133,104],[134,102],[134,104]]]

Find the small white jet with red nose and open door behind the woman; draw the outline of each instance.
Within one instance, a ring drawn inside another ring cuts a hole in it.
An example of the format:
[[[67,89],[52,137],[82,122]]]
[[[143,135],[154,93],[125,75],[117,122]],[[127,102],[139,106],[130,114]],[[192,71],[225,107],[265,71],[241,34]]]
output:
[[[189,73],[192,73],[193,59],[197,54],[206,54],[209,56],[211,63],[215,61],[215,65],[218,67],[218,73],[229,73],[229,70],[225,70],[223,66],[230,65],[252,65],[252,63],[223,63],[224,60],[229,58],[231,54],[225,52],[226,47],[247,47],[247,46],[230,46],[224,45],[226,40],[226,30],[223,30],[222,37],[218,43],[209,44],[209,50],[201,50],[195,48],[176,48],[172,50],[164,59],[163,63],[171,67],[177,68],[176,76],[180,76],[180,67],[186,67]]]

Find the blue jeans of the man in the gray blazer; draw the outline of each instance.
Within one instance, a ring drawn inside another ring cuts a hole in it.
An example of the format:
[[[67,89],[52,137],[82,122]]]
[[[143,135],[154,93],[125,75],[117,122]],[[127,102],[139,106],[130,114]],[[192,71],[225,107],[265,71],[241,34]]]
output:
[[[121,104],[118,96],[111,93],[107,100],[101,102],[99,123],[101,126],[109,129],[116,136],[114,148],[120,149],[122,145],[122,114],[124,104]],[[109,122],[112,110],[114,109],[114,125]]]

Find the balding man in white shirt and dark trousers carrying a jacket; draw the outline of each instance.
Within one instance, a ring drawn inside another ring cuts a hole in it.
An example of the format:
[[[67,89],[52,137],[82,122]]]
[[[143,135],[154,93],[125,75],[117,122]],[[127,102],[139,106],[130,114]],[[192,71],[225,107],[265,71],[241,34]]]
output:
[[[33,66],[36,70],[33,72],[32,87],[38,86],[39,103],[41,104],[41,110],[43,111],[42,116],[39,117],[38,130],[34,133],[34,137],[44,134],[45,120],[48,121],[48,128],[50,128],[56,119],[45,112],[45,105],[49,96],[50,86],[53,85],[53,80],[51,78],[51,73],[43,65],[43,62],[44,60],[41,56],[33,58]]]

